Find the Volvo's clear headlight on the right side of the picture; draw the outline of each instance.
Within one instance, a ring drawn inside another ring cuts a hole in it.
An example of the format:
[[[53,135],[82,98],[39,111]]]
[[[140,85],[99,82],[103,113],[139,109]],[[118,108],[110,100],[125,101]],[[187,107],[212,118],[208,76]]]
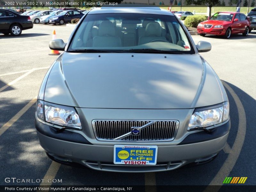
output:
[[[209,127],[227,121],[229,118],[228,101],[213,107],[197,108],[190,117],[188,131]]]

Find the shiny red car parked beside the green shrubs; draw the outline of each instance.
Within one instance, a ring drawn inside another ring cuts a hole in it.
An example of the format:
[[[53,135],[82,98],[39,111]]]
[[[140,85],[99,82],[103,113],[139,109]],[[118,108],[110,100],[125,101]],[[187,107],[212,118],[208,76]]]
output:
[[[247,36],[250,31],[251,21],[243,13],[218,12],[207,21],[198,24],[197,32],[201,36],[220,35],[230,38],[231,34],[242,33]]]

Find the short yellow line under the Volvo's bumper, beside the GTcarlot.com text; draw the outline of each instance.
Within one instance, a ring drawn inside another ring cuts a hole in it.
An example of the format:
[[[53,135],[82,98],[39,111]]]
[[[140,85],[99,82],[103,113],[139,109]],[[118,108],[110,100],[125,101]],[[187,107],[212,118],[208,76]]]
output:
[[[40,186],[42,185],[52,185],[52,182],[48,182],[49,180],[52,181],[57,172],[60,169],[60,164],[52,161],[52,164],[50,165],[49,169],[47,170],[47,172],[44,175],[44,180],[40,183]],[[37,192],[39,192],[40,190],[37,190]],[[45,192],[48,192],[48,190],[44,190]]]

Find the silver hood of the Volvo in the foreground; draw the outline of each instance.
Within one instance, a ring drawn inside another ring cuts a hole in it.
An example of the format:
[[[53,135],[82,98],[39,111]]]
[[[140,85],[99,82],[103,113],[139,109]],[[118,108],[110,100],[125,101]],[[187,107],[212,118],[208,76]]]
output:
[[[44,100],[82,108],[195,108],[223,102],[218,80],[199,54],[64,52]]]

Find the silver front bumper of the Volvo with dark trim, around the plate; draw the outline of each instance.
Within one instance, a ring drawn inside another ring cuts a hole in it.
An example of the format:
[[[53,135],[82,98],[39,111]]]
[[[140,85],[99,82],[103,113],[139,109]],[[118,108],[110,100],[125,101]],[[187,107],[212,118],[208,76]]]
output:
[[[93,145],[77,132],[65,130],[59,133],[56,128],[38,120],[35,125],[41,146],[56,160],[75,162],[95,170],[113,172],[168,171],[189,163],[206,161],[224,148],[230,129],[230,121],[228,121],[216,127],[211,134],[204,131],[192,133],[178,145],[170,145],[172,141],[165,141],[163,145],[162,141],[159,146],[159,143],[155,142],[158,146],[157,164],[133,166],[113,164],[114,144]]]

